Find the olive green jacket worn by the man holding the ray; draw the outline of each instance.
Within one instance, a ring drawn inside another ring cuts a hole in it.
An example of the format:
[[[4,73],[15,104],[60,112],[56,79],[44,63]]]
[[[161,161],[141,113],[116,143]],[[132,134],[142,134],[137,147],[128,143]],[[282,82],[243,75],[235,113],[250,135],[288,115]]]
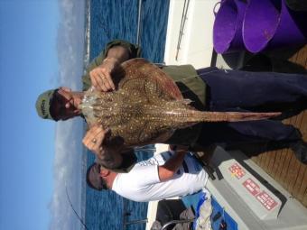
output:
[[[102,51],[96,59],[89,63],[86,73],[82,77],[83,90],[87,90],[91,85],[88,74],[89,71],[98,67],[106,58],[107,51],[116,45],[126,47],[130,52],[130,59],[140,57],[141,49],[135,44],[123,40],[116,40],[107,43],[105,50]],[[181,90],[182,96],[191,99],[191,106],[194,106],[199,110],[204,110],[206,106],[206,84],[201,80],[196,70],[191,65],[161,66],[161,69],[175,81],[176,85]],[[200,130],[201,124],[195,124],[189,128],[177,130],[166,143],[184,144],[194,147],[200,134]]]

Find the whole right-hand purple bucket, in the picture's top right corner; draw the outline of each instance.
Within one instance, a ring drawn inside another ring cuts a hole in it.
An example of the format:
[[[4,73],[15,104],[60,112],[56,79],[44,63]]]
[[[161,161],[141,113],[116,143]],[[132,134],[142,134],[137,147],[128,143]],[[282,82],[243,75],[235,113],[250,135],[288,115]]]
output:
[[[290,10],[284,0],[249,0],[243,41],[253,53],[306,43],[307,14]]]

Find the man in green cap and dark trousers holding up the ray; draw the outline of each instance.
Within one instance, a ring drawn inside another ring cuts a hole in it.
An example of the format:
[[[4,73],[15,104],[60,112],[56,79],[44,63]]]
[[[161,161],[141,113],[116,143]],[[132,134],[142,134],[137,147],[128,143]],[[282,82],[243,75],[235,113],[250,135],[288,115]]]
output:
[[[139,57],[139,54],[140,49],[132,43],[111,41],[105,51],[89,64],[82,78],[83,90],[91,85],[103,92],[114,90],[112,71],[123,61]],[[161,69],[176,82],[182,96],[191,99],[191,106],[202,111],[272,112],[291,110],[298,105],[305,108],[307,105],[307,78],[303,75],[217,68],[196,70],[191,65],[163,66]],[[82,97],[83,92],[59,87],[42,93],[36,109],[44,119],[67,120],[80,115],[78,106]],[[100,164],[122,170],[127,161],[123,157],[132,156],[132,149],[111,148],[98,143],[100,137],[97,135],[107,135],[107,130],[99,125],[94,125],[88,132],[83,143],[98,156]],[[247,142],[287,143],[299,161],[307,162],[307,147],[302,142],[301,133],[292,125],[273,120],[195,124],[176,130],[168,140],[159,141],[190,146],[192,151],[201,151],[215,143]]]

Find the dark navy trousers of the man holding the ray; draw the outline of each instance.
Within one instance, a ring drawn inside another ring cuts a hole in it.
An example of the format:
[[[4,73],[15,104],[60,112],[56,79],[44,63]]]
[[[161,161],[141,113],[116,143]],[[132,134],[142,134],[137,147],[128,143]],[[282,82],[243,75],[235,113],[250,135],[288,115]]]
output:
[[[198,69],[208,86],[209,111],[285,111],[307,106],[307,76],[274,72]],[[197,141],[211,143],[293,142],[301,134],[277,120],[205,123]]]

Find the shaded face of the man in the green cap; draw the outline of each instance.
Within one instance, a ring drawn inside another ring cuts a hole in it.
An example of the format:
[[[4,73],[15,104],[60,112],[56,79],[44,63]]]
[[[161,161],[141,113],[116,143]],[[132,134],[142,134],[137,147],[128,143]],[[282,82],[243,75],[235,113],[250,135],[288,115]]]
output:
[[[55,120],[67,120],[80,114],[78,106],[81,95],[71,92],[68,87],[60,87],[51,102],[51,115]]]

